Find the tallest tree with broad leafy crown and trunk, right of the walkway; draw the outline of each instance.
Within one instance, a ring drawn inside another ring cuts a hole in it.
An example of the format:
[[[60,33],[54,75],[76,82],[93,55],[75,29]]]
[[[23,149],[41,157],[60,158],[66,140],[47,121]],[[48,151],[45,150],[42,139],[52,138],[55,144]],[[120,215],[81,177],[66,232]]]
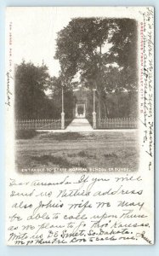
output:
[[[104,18],[72,19],[58,34],[55,58],[65,84],[78,73],[81,84],[96,88],[99,119],[108,92],[137,86],[136,35],[135,20]]]

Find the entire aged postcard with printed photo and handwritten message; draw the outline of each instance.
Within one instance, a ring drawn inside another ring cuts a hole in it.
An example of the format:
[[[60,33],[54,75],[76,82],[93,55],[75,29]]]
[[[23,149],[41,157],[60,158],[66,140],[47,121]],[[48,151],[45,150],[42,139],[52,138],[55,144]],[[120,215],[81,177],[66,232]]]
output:
[[[6,243],[154,244],[154,9],[7,8]]]

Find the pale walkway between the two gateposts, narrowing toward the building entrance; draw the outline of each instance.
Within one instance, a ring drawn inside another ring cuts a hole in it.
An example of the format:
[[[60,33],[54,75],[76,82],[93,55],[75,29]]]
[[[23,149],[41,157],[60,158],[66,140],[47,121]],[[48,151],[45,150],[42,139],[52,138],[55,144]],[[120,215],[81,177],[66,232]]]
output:
[[[89,124],[88,119],[73,119],[65,131],[94,131],[94,129]]]

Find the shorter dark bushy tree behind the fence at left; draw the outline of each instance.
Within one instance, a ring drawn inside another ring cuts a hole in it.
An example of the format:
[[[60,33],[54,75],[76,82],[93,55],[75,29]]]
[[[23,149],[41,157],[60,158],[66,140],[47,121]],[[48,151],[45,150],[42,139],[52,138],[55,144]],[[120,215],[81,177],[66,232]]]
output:
[[[54,103],[45,93],[50,86],[48,67],[23,61],[15,68],[14,84],[16,119],[54,118]]]

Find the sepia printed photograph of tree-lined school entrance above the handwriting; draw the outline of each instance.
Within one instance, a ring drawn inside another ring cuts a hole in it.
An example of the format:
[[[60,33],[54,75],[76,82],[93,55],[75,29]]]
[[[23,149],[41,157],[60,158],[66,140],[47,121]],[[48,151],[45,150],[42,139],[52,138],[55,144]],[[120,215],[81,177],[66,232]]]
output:
[[[137,172],[137,20],[53,15],[20,22],[17,172]]]

